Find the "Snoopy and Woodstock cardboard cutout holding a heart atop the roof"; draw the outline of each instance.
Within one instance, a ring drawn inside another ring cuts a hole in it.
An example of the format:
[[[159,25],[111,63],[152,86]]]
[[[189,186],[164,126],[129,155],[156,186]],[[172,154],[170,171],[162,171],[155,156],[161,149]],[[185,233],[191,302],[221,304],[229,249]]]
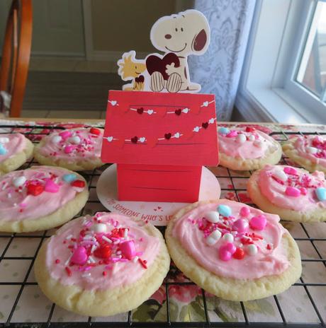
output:
[[[188,56],[199,56],[208,49],[210,27],[206,17],[193,9],[159,18],[150,31],[152,45],[163,54],[136,59],[136,52],[123,54],[118,74],[123,90],[169,93],[198,93],[201,85],[189,76]]]

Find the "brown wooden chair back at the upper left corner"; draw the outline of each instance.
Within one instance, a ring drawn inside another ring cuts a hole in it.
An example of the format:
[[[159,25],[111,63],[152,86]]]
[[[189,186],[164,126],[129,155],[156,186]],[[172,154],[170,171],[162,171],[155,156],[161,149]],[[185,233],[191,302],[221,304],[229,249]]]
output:
[[[20,117],[32,43],[32,0],[13,0],[0,68],[0,111]]]

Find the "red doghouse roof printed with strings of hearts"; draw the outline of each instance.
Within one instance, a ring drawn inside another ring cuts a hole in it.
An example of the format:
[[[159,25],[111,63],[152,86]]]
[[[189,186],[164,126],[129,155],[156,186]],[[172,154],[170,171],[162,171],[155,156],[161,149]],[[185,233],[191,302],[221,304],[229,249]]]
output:
[[[218,165],[213,95],[111,90],[104,163]]]

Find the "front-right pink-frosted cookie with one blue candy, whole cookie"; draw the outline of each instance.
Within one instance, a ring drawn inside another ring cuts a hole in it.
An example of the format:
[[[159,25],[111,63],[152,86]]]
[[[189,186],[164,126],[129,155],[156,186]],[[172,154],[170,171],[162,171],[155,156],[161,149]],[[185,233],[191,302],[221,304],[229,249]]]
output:
[[[235,201],[187,206],[169,222],[165,238],[176,266],[227,300],[282,293],[301,274],[298,246],[279,216]]]

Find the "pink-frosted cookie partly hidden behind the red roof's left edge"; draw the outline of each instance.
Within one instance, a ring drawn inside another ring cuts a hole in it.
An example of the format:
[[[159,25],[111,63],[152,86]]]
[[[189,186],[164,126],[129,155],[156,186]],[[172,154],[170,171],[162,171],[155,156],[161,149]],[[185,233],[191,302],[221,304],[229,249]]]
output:
[[[93,170],[103,165],[103,129],[78,128],[56,131],[35,146],[40,164],[61,166],[74,171]]]

